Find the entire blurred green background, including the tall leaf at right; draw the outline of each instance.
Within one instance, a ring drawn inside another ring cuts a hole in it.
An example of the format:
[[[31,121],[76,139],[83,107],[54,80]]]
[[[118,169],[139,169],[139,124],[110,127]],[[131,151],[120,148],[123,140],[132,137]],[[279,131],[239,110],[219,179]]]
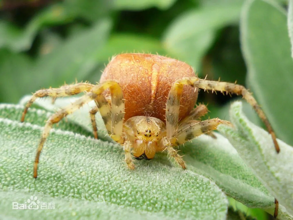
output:
[[[247,2],[2,0],[0,103],[64,82],[95,83],[115,54],[158,53],[187,62],[200,77],[251,88],[277,137],[293,145],[287,1]],[[210,117],[229,119],[235,98],[202,91],[199,101],[209,104]],[[244,111],[261,125],[249,106]]]

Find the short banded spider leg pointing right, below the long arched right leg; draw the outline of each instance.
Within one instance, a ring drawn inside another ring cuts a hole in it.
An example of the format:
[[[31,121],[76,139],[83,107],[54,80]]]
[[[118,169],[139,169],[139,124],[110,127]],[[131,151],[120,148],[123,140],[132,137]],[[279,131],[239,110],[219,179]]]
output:
[[[177,132],[177,141],[176,145],[183,144],[188,140],[191,140],[197,136],[200,136],[202,134],[207,134],[211,132],[212,130],[216,130],[218,125],[224,124],[224,125],[232,125],[231,122],[224,121],[218,118],[213,118],[209,120],[205,120],[202,122],[198,121],[191,121],[185,125],[182,125],[179,127]]]

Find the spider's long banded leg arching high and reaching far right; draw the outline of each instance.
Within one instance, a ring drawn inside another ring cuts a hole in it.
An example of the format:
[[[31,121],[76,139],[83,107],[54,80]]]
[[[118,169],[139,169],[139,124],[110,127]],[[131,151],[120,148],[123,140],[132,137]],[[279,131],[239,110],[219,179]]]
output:
[[[265,126],[268,129],[268,132],[271,134],[275,149],[277,152],[280,151],[280,147],[276,140],[275,132],[270,125],[265,113],[260,108],[255,98],[248,92],[248,90],[241,85],[227,82],[219,81],[210,81],[205,79],[200,79],[197,77],[186,77],[177,80],[171,87],[169,92],[169,97],[167,99],[167,108],[166,108],[166,125],[167,125],[167,134],[169,138],[172,138],[178,127],[178,113],[179,113],[179,100],[182,95],[183,85],[190,85],[195,88],[201,88],[204,90],[220,91],[222,93],[235,93],[236,95],[242,95],[243,98],[253,107],[258,116],[263,120]],[[169,132],[168,132],[169,128]]]

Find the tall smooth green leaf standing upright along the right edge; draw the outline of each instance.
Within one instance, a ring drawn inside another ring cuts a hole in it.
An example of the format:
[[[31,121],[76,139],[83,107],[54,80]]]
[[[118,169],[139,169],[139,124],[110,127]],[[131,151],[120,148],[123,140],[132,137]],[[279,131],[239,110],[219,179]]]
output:
[[[268,1],[246,1],[241,34],[249,87],[277,137],[293,145],[293,60],[285,10]]]

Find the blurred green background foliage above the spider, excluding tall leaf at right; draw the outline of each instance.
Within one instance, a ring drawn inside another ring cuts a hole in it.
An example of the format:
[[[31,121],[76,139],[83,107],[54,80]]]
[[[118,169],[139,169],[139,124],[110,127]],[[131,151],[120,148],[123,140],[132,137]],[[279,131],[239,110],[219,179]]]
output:
[[[171,56],[188,62],[200,76],[244,83],[238,27],[242,3],[2,1],[0,102],[16,103],[25,94],[64,82],[95,83],[109,58],[122,52]],[[230,64],[233,71],[227,70]]]

